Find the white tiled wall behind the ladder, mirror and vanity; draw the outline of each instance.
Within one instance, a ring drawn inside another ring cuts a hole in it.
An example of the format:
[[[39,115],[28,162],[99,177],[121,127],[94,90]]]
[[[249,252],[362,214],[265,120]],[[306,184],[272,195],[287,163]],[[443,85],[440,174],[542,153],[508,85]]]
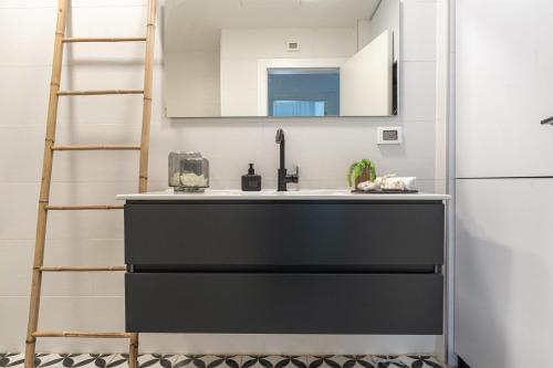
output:
[[[73,0],[73,34],[143,34],[143,0]],[[378,171],[417,176],[422,190],[435,175],[436,2],[403,6],[400,114],[347,119],[169,120],[163,114],[161,52],[156,50],[150,188],[167,186],[167,154],[198,149],[210,159],[215,188],[239,188],[247,164],[255,162],[265,188],[276,181],[274,132],[286,133],[288,165],[301,168],[302,188],[343,188],[354,159],[376,161]],[[0,350],[22,350],[27,326],[36,200],[44,140],[54,0],[0,1]],[[159,33],[159,32],[158,32]],[[159,45],[159,42],[157,42]],[[140,87],[144,46],[67,46],[72,67],[64,88]],[[131,59],[131,62],[128,60]],[[59,143],[136,144],[139,96],[75,97],[60,105]],[[377,126],[403,126],[405,144],[376,146]],[[52,202],[112,201],[136,190],[136,153],[56,154]],[[121,213],[54,213],[50,218],[48,264],[122,264]],[[46,275],[43,328],[118,330],[124,326],[122,275]],[[231,336],[144,335],[142,351],[180,353],[405,353],[434,351],[432,336]],[[41,339],[39,350],[125,351],[118,340]]]

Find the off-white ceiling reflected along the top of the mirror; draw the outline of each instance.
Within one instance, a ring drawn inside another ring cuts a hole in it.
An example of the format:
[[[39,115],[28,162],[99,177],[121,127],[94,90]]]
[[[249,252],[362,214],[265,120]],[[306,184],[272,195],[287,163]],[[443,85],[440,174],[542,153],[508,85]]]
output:
[[[385,0],[384,0],[385,1]],[[166,0],[165,51],[218,50],[223,28],[342,28],[379,0]]]

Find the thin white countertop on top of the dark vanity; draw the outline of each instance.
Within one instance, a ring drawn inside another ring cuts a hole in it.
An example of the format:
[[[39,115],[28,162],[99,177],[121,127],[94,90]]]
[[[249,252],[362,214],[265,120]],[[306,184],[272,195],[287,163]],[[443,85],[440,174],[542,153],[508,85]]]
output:
[[[118,200],[448,200],[448,194],[435,193],[390,193],[390,194],[364,194],[352,193],[348,189],[306,189],[290,191],[241,191],[241,190],[206,190],[202,193],[174,192],[173,188],[165,191],[153,191],[146,193],[118,194]]]

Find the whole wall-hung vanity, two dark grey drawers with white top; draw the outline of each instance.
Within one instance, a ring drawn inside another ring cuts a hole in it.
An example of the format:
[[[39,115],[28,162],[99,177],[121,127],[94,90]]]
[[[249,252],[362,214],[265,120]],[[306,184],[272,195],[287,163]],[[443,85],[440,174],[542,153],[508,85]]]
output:
[[[122,194],[127,332],[440,335],[440,194]]]

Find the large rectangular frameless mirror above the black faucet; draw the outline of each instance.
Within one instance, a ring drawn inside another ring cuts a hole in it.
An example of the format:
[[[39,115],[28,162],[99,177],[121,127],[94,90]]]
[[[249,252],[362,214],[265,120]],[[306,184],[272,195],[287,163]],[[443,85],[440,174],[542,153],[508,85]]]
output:
[[[399,0],[167,0],[168,117],[397,114]]]

